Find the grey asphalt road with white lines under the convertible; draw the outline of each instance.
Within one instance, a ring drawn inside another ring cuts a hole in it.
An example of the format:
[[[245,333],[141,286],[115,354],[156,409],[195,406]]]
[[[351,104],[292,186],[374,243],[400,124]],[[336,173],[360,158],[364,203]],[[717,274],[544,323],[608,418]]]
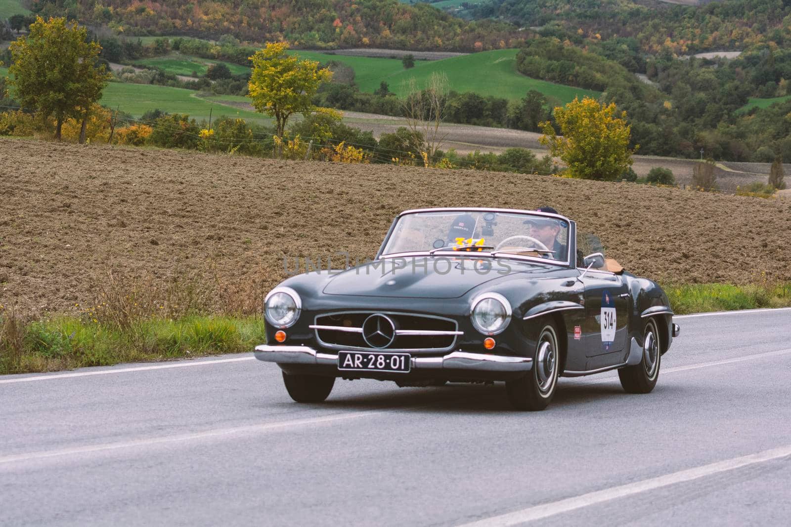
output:
[[[791,310],[677,317],[648,395],[337,382],[251,356],[0,378],[2,525],[788,525]]]

